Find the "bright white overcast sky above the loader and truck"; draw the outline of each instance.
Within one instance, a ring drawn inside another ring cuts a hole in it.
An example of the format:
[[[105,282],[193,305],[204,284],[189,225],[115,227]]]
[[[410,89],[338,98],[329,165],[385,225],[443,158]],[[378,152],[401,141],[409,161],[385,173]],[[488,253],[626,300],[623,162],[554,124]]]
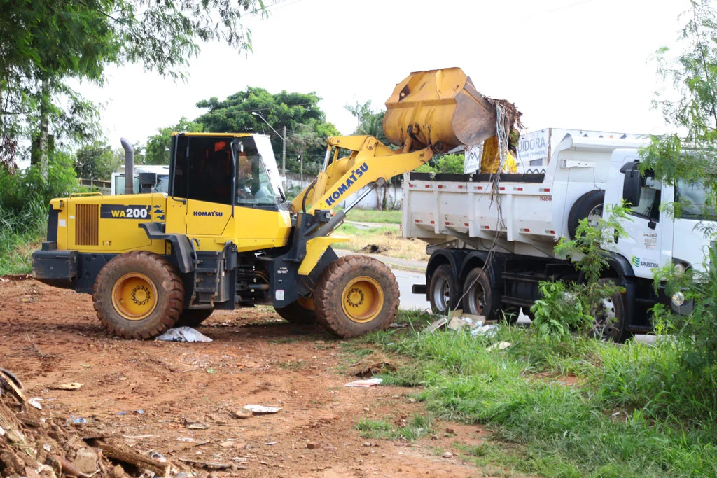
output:
[[[272,3],[268,0],[267,4]],[[283,0],[249,17],[254,51],[202,46],[188,82],[141,66],[113,67],[104,87],[80,86],[104,105],[103,128],[144,142],[196,118],[196,102],[247,86],[318,93],[343,134],[346,102],[384,107],[409,72],[461,67],[475,87],[516,103],[528,130],[580,128],[660,133],[657,48],[673,44],[688,0]],[[279,128],[280,125],[275,125]]]

